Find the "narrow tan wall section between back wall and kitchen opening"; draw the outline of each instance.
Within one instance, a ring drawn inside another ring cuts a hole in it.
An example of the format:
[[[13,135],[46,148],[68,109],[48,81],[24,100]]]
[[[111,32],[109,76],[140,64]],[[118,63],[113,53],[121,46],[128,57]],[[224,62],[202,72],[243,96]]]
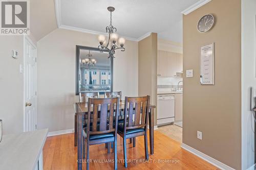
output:
[[[139,95],[150,95],[151,104],[157,105],[157,33],[139,41]]]

